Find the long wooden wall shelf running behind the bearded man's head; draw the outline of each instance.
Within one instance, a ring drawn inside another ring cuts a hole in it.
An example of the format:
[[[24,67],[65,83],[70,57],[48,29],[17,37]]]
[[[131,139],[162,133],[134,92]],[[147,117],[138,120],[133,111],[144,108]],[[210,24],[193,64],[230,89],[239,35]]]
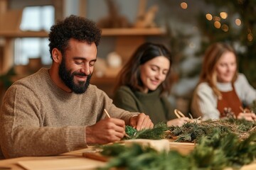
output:
[[[120,35],[164,35],[164,28],[103,28],[102,36]],[[47,31],[0,31],[0,37],[4,38],[47,38]]]

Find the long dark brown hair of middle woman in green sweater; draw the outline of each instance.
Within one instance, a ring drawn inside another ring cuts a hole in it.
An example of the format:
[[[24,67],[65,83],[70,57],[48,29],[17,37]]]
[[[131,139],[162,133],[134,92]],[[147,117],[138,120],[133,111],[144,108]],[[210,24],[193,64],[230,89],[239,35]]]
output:
[[[119,86],[129,86],[136,91],[142,91],[144,84],[140,78],[139,66],[149,60],[154,59],[154,57],[159,56],[166,57],[170,61],[171,66],[171,53],[164,45],[151,42],[145,42],[144,44],[140,45],[127,64],[125,64],[122,70],[119,72],[115,90],[117,90]],[[171,68],[166,75],[166,79],[160,85],[161,94],[170,91],[170,77]]]

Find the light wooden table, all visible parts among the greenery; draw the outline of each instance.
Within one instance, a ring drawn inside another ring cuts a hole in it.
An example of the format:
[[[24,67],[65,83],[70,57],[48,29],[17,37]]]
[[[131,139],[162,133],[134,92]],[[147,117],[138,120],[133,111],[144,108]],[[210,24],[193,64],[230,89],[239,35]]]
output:
[[[176,149],[181,154],[188,154],[193,150],[193,145],[188,143],[170,142],[170,149]],[[97,161],[95,159],[88,159],[82,157],[83,152],[92,150],[92,147],[86,149],[80,149],[58,156],[51,157],[19,157],[14,159],[4,159],[0,161],[0,170],[4,170],[4,167],[11,170],[80,170],[80,169],[96,169],[98,166],[105,166],[106,162]],[[242,166],[240,170],[255,170],[256,162]],[[227,168],[225,170],[232,170]]]

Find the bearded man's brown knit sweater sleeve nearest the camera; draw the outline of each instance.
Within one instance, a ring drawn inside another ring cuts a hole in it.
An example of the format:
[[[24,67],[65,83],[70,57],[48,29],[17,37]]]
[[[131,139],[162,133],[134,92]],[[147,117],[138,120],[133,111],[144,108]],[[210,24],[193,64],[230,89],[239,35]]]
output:
[[[36,94],[11,86],[0,112],[0,145],[4,157],[47,156],[86,147],[85,126],[45,126]],[[58,116],[58,115],[57,115]]]

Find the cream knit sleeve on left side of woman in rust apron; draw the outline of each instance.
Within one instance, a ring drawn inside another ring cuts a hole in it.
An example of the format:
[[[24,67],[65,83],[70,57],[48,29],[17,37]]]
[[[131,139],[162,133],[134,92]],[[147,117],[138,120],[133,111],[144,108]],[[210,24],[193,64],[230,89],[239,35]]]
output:
[[[201,83],[197,86],[191,102],[191,112],[194,118],[202,116],[203,120],[220,118],[217,98],[208,84]]]

